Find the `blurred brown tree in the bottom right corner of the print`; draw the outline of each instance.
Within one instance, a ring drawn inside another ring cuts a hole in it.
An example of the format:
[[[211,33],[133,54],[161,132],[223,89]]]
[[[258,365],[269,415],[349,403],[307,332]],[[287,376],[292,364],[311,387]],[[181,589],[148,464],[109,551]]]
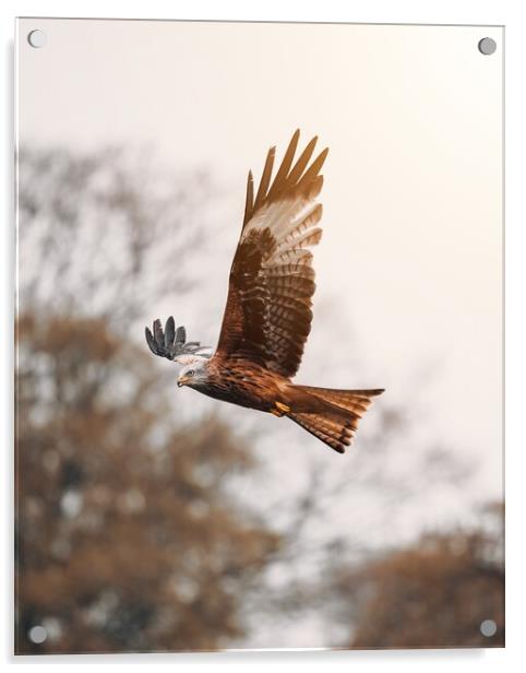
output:
[[[356,567],[334,568],[330,595],[351,648],[503,647],[503,508],[479,528],[423,535]],[[481,624],[494,622],[485,636]]]

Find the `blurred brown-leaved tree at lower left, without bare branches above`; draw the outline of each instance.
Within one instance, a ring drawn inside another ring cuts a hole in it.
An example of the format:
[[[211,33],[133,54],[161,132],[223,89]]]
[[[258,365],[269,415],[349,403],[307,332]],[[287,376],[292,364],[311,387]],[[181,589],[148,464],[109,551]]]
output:
[[[278,545],[236,501],[222,422],[178,425],[104,321],[19,320],[17,652],[214,649]],[[35,627],[45,629],[38,640]]]

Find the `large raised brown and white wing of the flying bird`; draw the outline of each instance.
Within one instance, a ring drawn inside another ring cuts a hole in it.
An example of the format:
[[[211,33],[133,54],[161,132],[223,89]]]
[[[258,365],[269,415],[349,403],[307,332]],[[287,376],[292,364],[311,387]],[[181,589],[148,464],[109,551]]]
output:
[[[218,358],[246,358],[292,377],[311,329],[314,270],[308,250],[320,241],[320,169],[316,138],[292,166],[299,131],[271,185],[275,147],[267,154],[258,193],[249,173],[243,227],[230,271]]]

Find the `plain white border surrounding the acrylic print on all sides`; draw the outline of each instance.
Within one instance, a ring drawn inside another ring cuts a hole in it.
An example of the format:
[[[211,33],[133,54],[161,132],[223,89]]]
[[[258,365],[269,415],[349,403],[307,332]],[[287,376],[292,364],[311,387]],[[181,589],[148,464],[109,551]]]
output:
[[[44,668],[67,663],[71,668],[82,663],[142,666],[152,663],[160,665],[192,665],[196,670],[208,666],[243,665],[252,669],[268,665],[287,665],[301,669],[318,669],[320,665],[349,666],[358,664],[373,670],[398,671],[443,670],[452,672],[477,670],[514,670],[525,657],[522,650],[524,617],[524,575],[526,568],[524,543],[524,491],[526,442],[523,427],[524,399],[524,350],[526,333],[524,312],[525,269],[525,177],[524,156],[526,119],[524,92],[524,3],[521,0],[266,0],[249,3],[247,0],[47,0],[12,1],[0,3],[0,33],[2,38],[3,63],[3,125],[2,137],[7,152],[1,163],[0,202],[4,204],[4,223],[1,229],[0,250],[1,283],[1,344],[0,374],[4,385],[1,389],[0,428],[3,433],[3,505],[2,507],[2,555],[0,614],[1,657],[9,665],[34,664]],[[208,19],[247,21],[314,21],[354,23],[435,23],[435,24],[486,24],[506,26],[506,583],[507,633],[505,650],[404,650],[404,651],[286,651],[286,652],[222,652],[202,654],[129,654],[129,656],[83,656],[83,657],[35,657],[13,658],[12,652],[12,310],[13,310],[13,31],[14,16],[92,16],[92,17],[141,17],[141,19]]]

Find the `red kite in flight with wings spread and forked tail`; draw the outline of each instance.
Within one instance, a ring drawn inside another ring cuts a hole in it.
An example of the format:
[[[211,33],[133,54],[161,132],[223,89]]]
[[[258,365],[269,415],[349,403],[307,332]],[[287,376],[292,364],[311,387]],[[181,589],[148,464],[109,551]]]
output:
[[[335,390],[291,382],[311,330],[314,269],[310,247],[322,236],[316,201],[328,149],[311,161],[313,138],[295,162],[299,131],[292,135],[272,179],[275,147],[267,153],[254,198],[249,172],[244,217],[234,256],[217,349],[187,342],[168,318],[155,320],[146,341],[155,355],[182,368],[178,386],[206,395],[287,416],[344,453],[375,390]]]

